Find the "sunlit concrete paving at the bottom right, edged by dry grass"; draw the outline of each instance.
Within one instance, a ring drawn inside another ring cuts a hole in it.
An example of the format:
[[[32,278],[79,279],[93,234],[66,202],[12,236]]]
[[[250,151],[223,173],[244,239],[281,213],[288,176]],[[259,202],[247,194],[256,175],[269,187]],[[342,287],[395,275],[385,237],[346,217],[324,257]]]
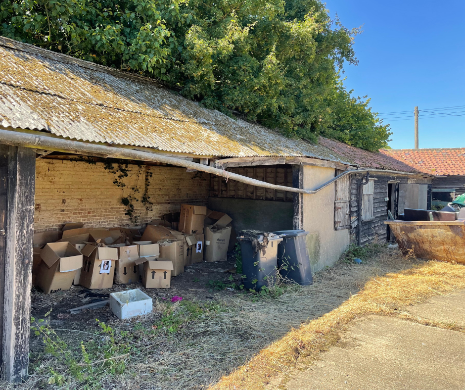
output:
[[[465,292],[436,296],[411,314],[465,326]],[[288,390],[465,390],[465,333],[368,316],[320,360],[295,372]]]

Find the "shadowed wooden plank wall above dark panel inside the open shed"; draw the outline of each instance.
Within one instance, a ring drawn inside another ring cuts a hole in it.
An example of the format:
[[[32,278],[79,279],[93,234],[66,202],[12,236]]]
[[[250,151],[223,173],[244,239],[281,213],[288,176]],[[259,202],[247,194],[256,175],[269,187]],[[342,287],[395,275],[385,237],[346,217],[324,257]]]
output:
[[[267,183],[292,187],[292,166],[291,165],[264,165],[255,167],[228,168],[228,172],[261,180]],[[234,197],[242,199],[276,200],[292,202],[293,195],[287,191],[269,190],[263,187],[255,187],[224,177],[211,176],[210,196],[213,197]]]

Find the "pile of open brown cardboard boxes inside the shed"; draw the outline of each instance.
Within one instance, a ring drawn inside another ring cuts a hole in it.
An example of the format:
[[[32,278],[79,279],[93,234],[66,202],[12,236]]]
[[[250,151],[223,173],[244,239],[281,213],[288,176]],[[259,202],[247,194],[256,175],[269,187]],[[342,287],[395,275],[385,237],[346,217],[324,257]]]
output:
[[[34,235],[33,284],[45,293],[73,283],[107,289],[140,281],[145,288],[169,288],[171,276],[186,265],[226,260],[231,221],[227,214],[183,204],[179,224],[157,219],[142,235],[138,229],[66,224],[61,232]]]

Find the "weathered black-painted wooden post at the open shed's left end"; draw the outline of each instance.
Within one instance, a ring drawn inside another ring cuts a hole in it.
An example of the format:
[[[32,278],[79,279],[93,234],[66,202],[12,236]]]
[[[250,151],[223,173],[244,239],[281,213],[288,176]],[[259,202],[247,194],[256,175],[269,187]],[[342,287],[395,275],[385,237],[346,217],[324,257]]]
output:
[[[1,377],[27,379],[36,153],[0,145]],[[4,230],[4,233],[3,233]]]

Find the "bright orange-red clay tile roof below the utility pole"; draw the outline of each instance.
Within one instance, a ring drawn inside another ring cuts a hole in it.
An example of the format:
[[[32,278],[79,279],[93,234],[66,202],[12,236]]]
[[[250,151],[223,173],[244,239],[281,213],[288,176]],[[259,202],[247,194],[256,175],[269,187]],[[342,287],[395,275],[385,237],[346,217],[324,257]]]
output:
[[[465,147],[380,150],[421,172],[438,176],[465,175]]]

